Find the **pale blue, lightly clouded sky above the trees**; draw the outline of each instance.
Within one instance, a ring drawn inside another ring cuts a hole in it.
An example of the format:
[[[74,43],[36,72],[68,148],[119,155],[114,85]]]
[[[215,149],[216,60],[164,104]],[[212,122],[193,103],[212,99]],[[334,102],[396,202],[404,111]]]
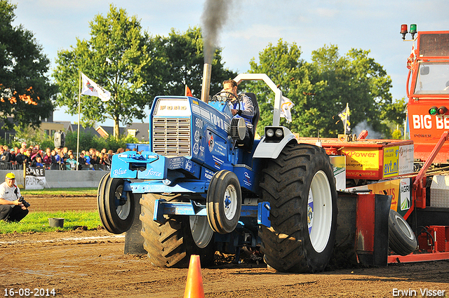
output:
[[[106,16],[109,4],[124,8],[140,20],[152,35],[168,36],[171,29],[186,32],[201,27],[206,0],[10,0],[17,4],[13,25],[34,33],[36,42],[55,68],[59,50],[76,46],[76,38],[91,39],[90,22],[95,15]],[[215,1],[215,0],[212,0]],[[218,38],[225,67],[244,73],[249,62],[259,62],[259,53],[279,39],[296,43],[302,59],[311,62],[311,52],[335,45],[340,55],[351,48],[370,50],[391,76],[394,100],[406,97],[406,61],[413,45],[399,34],[401,24],[417,24],[418,31],[448,30],[448,0],[227,0],[229,14]],[[408,34],[407,39],[410,39]],[[59,107],[54,121],[78,121],[65,107]],[[149,120],[145,120],[148,122]],[[136,120],[136,122],[140,122]],[[99,125],[113,126],[112,120]],[[121,123],[121,126],[123,123]]]

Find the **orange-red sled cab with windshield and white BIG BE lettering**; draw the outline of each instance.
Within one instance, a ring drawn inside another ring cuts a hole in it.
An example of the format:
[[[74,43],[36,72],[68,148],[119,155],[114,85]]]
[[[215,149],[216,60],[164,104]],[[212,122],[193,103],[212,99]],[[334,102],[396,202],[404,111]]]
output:
[[[449,130],[449,31],[417,32],[408,58],[408,125],[414,155],[427,161],[444,131]],[[448,163],[443,144],[434,163]]]

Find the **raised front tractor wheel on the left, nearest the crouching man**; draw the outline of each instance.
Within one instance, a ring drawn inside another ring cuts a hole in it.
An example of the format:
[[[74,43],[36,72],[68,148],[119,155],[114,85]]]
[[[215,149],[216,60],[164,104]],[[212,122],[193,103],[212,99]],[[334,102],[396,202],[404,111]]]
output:
[[[100,219],[110,233],[124,233],[133,224],[135,202],[129,191],[124,194],[123,183],[123,179],[111,178],[107,173],[98,186]]]

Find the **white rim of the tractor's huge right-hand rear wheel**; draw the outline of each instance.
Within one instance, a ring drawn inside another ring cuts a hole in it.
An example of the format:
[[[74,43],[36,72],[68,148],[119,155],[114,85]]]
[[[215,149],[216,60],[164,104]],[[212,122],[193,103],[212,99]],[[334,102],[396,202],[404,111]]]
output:
[[[311,245],[316,252],[322,252],[328,245],[332,213],[332,192],[328,177],[319,170],[311,180],[307,201],[307,227]]]

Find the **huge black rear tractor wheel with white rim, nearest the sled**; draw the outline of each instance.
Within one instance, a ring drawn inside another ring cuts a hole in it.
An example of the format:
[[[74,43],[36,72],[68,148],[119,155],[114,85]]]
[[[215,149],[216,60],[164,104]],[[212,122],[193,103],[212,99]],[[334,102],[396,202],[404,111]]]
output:
[[[337,233],[337,191],[326,151],[288,144],[267,161],[260,187],[272,223],[260,229],[264,261],[281,272],[323,271]]]

